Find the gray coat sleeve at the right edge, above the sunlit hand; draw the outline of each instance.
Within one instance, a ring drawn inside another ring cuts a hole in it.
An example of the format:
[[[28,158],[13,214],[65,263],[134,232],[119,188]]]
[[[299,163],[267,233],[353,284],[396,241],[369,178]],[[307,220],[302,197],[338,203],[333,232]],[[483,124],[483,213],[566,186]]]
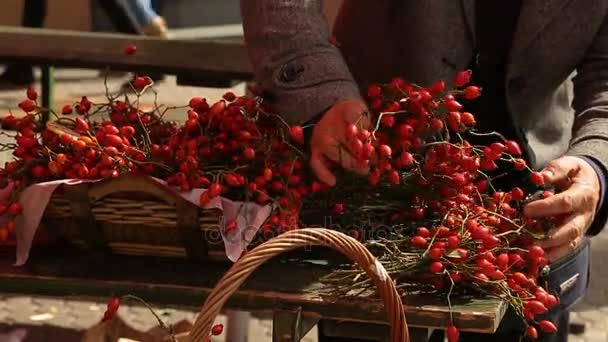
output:
[[[567,154],[590,158],[596,163],[598,176],[605,177],[608,170],[608,17],[604,18],[579,64],[573,82],[575,118]],[[602,194],[602,198],[605,195]],[[608,208],[606,200],[602,202],[592,234],[597,234],[606,224]]]

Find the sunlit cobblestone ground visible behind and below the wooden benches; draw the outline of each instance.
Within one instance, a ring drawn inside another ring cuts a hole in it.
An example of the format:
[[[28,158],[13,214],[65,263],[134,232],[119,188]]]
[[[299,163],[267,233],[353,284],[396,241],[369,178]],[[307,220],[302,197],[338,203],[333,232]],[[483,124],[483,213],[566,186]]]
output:
[[[124,78],[113,77],[108,81],[108,89],[118,89]],[[218,99],[226,89],[209,89],[194,87],[177,87],[174,78],[167,78],[159,83],[158,103],[168,106],[184,105],[192,96],[206,96]],[[237,94],[244,92],[244,86],[232,88]],[[22,99],[20,91],[0,91],[0,110],[15,108]],[[103,99],[104,83],[95,71],[60,70],[57,75],[56,107],[70,103],[82,95],[92,100]],[[144,102],[153,102],[154,97],[146,95]],[[18,110],[15,110],[18,113]],[[181,119],[183,110],[169,112],[172,119]],[[0,112],[1,114],[1,112]],[[0,160],[10,158],[10,154],[0,155]],[[585,332],[580,335],[570,335],[572,342],[605,342],[608,341],[608,272],[602,270],[604,262],[608,263],[608,231],[593,240],[593,265],[591,286],[587,296],[574,309],[572,321],[585,325]],[[86,329],[95,324],[103,314],[104,303],[90,300],[58,299],[43,297],[13,296],[0,294],[0,342],[2,333],[18,326],[26,326],[30,331],[45,331],[39,333],[36,339],[29,341],[71,342],[78,341],[75,331]],[[167,323],[182,319],[193,320],[195,312],[180,309],[160,311]],[[122,318],[136,329],[147,330],[155,325],[154,317],[139,306],[121,307]],[[226,317],[218,318],[225,322]],[[268,319],[253,318],[249,323],[249,342],[270,341],[272,322]],[[34,336],[32,336],[33,338]],[[306,342],[316,341],[316,333],[311,332],[305,338]],[[217,339],[223,341],[223,338]],[[232,341],[230,341],[232,342]]]

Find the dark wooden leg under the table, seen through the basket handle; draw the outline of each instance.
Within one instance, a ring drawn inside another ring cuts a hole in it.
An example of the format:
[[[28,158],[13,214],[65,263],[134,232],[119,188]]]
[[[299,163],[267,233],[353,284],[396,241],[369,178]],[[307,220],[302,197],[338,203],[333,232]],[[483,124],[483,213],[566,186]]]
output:
[[[300,342],[319,322],[316,316],[306,316],[302,308],[275,310],[272,318],[272,342]]]

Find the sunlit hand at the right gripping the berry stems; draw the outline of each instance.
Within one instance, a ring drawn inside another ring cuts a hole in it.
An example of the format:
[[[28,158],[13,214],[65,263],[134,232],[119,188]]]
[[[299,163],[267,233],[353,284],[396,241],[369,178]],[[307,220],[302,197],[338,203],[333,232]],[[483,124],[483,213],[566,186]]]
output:
[[[563,216],[566,219],[539,242],[549,261],[575,250],[593,223],[600,199],[600,182],[595,170],[582,158],[566,156],[551,161],[541,171],[546,184],[562,192],[531,202],[524,215],[531,218]]]

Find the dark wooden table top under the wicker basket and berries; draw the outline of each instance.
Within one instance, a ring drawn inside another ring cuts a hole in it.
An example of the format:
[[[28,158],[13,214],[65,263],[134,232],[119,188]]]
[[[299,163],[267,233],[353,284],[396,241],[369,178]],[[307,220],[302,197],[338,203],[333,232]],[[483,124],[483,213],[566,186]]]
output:
[[[229,263],[192,263],[182,259],[104,256],[94,257],[64,247],[35,250],[28,263],[14,267],[14,254],[0,248],[0,292],[95,297],[132,294],[156,305],[200,308]],[[336,300],[315,294],[318,279],[331,272],[319,263],[296,262],[287,257],[256,270],[231,297],[227,307],[247,311],[301,307],[303,312],[340,321],[384,323],[379,300]],[[428,296],[404,298],[412,327],[445,328],[450,314],[445,300]],[[491,333],[506,311],[495,299],[452,299],[454,322],[463,331]]]

